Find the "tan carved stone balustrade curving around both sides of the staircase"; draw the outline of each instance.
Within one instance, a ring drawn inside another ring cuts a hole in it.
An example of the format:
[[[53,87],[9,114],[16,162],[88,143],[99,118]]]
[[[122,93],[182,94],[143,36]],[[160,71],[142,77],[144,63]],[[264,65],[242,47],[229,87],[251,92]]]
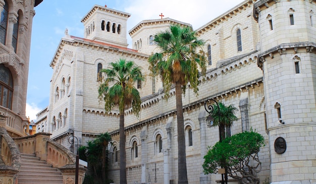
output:
[[[21,167],[21,154],[35,154],[40,160],[58,168],[64,183],[75,183],[76,156],[67,148],[49,139],[50,133],[13,138],[7,132],[7,116],[0,115],[0,183],[16,183]],[[78,183],[82,183],[86,168],[79,165]]]

